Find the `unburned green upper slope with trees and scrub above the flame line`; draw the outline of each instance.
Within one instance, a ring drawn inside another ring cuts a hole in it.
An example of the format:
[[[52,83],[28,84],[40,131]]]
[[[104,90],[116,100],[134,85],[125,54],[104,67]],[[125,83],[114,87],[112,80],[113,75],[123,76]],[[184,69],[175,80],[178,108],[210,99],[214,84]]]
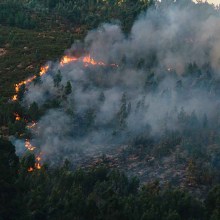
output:
[[[149,5],[149,1],[141,0],[123,3],[117,0],[1,1],[0,45],[10,51],[0,57],[1,94],[10,97],[14,84],[30,76],[31,68],[57,59],[64,48],[70,47],[74,39],[81,38],[88,29],[119,20],[123,29],[129,30],[137,15]],[[70,27],[74,27],[73,34],[68,32]]]

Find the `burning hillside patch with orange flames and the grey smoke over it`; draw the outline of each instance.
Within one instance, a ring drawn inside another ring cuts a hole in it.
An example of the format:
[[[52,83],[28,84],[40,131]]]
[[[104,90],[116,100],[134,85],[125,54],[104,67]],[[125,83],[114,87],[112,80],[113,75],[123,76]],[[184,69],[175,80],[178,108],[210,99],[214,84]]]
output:
[[[166,13],[163,7],[158,6],[158,13],[166,19],[161,20],[150,10],[136,21],[130,37],[116,24],[102,25],[88,33],[83,50],[82,44],[74,44],[59,62],[49,63],[39,74],[15,85],[14,101],[22,86],[27,89],[22,101],[31,115],[26,119],[26,129],[31,132],[28,137],[31,141],[25,142],[27,149],[44,152],[43,156],[53,163],[61,163],[61,158],[74,161],[75,157],[76,163],[84,163],[83,157],[96,157],[109,148],[115,152],[111,155],[115,161],[120,154],[109,146],[117,146],[124,149],[128,158],[133,158],[123,159],[129,164],[142,157],[152,164],[148,175],[140,170],[143,181],[152,179],[156,164],[167,166],[165,161],[170,160],[178,163],[172,157],[180,153],[185,160],[178,167],[181,171],[170,173],[181,173],[180,178],[187,182],[184,164],[192,152],[186,143],[192,143],[197,136],[195,130],[204,133],[206,141],[211,131],[216,137],[219,106],[215,98],[218,63],[211,59],[217,53],[218,39],[189,30],[194,26],[207,30],[210,22],[215,23],[218,18],[204,17],[202,21],[195,16],[199,9],[189,10],[186,16],[178,5]],[[190,25],[189,18],[193,20]],[[187,24],[183,30],[182,23]],[[180,31],[184,31],[181,36]],[[210,36],[218,32],[210,30]],[[184,42],[182,47],[180,41]],[[84,51],[85,55],[78,51]],[[15,117],[21,121],[19,115]],[[141,142],[137,145],[142,157],[132,150],[134,140]],[[148,146],[149,140],[153,141]],[[209,145],[216,144],[215,141]],[[211,156],[211,152],[207,153]],[[158,162],[160,156],[168,158]],[[136,172],[136,168],[129,170]],[[165,170],[161,172],[156,176],[164,182],[167,176],[163,175]]]

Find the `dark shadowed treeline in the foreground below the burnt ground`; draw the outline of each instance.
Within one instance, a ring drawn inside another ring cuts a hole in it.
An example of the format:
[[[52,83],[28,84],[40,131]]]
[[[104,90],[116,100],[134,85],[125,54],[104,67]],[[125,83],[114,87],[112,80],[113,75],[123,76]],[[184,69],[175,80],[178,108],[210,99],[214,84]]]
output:
[[[0,219],[219,219],[220,186],[204,201],[157,181],[140,185],[103,162],[75,169],[44,165],[28,172],[33,155],[20,162],[14,146],[0,140]]]

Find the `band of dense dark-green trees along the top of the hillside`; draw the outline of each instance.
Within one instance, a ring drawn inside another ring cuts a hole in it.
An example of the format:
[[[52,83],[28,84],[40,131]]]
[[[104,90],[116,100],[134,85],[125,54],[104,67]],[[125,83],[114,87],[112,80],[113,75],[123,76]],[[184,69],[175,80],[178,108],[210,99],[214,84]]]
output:
[[[120,21],[125,29],[129,29],[136,17],[141,11],[145,11],[153,0],[32,0],[32,1],[16,1],[6,0],[2,3],[2,16],[4,22],[18,27],[33,28],[36,25],[33,20],[27,16],[27,9],[32,12],[40,13],[46,16],[60,16],[68,19],[73,26],[85,26],[89,29],[96,27],[102,22]],[[10,10],[8,9],[11,8]],[[23,13],[20,9],[26,8]],[[14,14],[13,11],[16,10]],[[7,15],[7,16],[6,16]],[[20,18],[23,16],[23,23]],[[9,19],[9,17],[11,17]],[[27,22],[28,25],[26,24]]]

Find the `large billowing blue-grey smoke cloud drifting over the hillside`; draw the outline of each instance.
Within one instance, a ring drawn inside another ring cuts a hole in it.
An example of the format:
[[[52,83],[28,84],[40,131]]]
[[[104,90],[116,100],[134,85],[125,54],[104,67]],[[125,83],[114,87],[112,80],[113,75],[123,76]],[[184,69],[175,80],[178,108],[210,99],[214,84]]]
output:
[[[66,54],[85,50],[106,66],[57,62],[41,83],[29,86],[24,104],[50,108],[32,141],[59,161],[126,144],[137,135],[181,130],[181,114],[196,114],[199,121],[204,114],[216,117],[219,22],[219,12],[208,4],[163,1],[142,13],[128,35],[116,24],[90,31]],[[55,86],[59,71],[62,80]]]

